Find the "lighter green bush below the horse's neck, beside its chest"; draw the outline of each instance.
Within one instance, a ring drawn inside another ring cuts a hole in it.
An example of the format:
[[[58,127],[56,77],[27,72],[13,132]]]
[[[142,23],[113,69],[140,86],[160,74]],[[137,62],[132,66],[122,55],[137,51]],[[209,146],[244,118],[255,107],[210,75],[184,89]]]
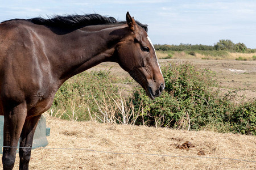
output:
[[[118,86],[114,85],[116,82],[109,71],[85,71],[73,76],[57,91],[51,107],[52,116],[65,120],[88,121],[89,111],[92,114],[98,113],[96,101],[101,104],[108,97],[115,99],[115,95],[118,95]],[[101,114],[97,116],[102,117]]]

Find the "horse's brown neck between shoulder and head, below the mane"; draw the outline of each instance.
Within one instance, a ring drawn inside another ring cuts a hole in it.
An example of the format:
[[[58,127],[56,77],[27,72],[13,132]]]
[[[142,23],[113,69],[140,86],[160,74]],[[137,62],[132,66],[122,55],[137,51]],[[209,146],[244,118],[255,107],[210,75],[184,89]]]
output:
[[[105,61],[114,61],[115,45],[125,35],[124,25],[89,26],[67,34],[59,55],[61,71],[59,79],[65,82],[73,75]],[[119,33],[112,33],[120,30]]]

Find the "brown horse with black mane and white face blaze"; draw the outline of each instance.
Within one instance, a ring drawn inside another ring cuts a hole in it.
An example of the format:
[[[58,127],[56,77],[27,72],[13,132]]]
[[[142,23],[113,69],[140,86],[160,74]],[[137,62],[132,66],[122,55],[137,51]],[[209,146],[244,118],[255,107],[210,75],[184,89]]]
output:
[[[129,12],[126,22],[88,14],[0,24],[3,169],[13,169],[19,139],[19,168],[28,169],[36,125],[56,91],[71,76],[105,61],[118,62],[151,99],[164,89],[147,25]]]

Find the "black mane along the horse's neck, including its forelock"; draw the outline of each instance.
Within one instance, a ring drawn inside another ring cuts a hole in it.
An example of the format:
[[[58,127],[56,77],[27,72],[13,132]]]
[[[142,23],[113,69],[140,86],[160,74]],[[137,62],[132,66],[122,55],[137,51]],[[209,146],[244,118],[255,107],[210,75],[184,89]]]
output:
[[[44,19],[41,17],[27,19],[29,22],[38,24],[38,25],[46,25],[48,27],[62,27],[62,28],[81,28],[88,25],[100,25],[100,24],[123,24],[126,22],[118,22],[113,17],[102,16],[99,14],[85,14],[85,15],[67,15],[60,16],[55,15],[52,18]],[[139,23],[136,21],[138,25],[147,31],[147,25]]]

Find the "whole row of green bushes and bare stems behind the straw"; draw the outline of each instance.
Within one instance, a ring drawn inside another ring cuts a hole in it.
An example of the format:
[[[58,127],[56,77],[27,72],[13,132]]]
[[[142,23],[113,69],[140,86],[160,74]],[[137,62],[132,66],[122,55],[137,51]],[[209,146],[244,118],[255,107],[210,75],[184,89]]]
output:
[[[256,135],[256,101],[233,103],[236,91],[220,94],[213,71],[190,63],[162,67],[166,88],[155,100],[137,83],[131,96],[123,95],[121,80],[109,73],[74,76],[61,86],[49,113],[65,120]]]

